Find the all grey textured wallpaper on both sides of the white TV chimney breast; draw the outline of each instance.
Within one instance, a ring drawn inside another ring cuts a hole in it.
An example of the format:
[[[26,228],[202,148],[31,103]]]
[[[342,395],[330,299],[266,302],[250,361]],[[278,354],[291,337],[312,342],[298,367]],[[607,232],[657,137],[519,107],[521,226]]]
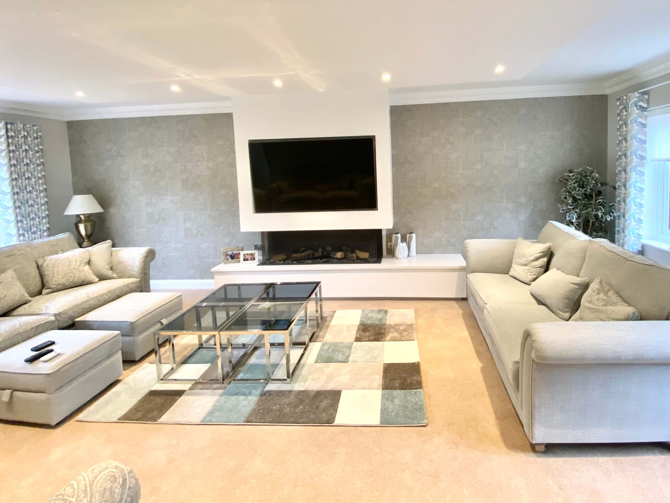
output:
[[[94,194],[94,241],[152,246],[153,279],[209,279],[239,230],[232,114],[68,122],[75,194]],[[393,231],[419,253],[470,237],[537,237],[559,219],[567,168],[606,174],[607,97],[391,107]],[[387,231],[390,237],[391,231]]]

